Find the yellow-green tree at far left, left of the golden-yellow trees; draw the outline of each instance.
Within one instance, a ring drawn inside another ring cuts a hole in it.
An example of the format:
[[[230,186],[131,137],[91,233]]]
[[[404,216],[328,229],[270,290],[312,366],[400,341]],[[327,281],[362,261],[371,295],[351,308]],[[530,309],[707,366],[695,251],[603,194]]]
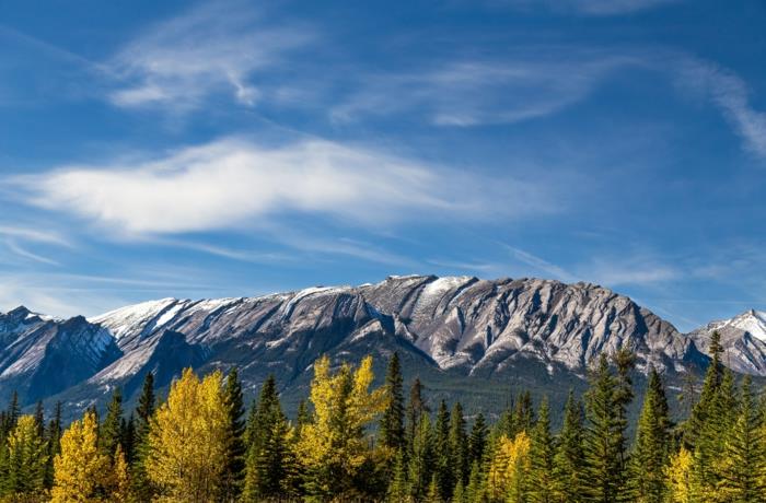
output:
[[[48,453],[34,416],[21,416],[8,437],[5,489],[12,495],[43,490]]]

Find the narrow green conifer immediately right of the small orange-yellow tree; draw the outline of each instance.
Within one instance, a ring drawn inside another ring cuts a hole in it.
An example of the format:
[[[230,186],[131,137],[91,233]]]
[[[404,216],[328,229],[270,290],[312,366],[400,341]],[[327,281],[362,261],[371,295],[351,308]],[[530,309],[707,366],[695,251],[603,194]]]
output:
[[[537,422],[532,429],[530,446],[530,501],[553,503],[556,495],[554,457],[556,445],[550,433],[547,398],[539,406]]]

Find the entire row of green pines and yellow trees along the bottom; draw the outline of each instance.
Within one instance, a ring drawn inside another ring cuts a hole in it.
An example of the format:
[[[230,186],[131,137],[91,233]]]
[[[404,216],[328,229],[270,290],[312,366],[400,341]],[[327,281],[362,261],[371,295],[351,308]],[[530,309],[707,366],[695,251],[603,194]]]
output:
[[[2,414],[0,494],[55,502],[764,502],[766,405],[721,363],[720,338],[698,399],[674,422],[650,370],[635,434],[634,356],[601,356],[582,397],[552,431],[545,399],[514,397],[489,424],[460,403],[429,407],[415,379],[405,397],[394,354],[373,389],[372,359],[314,364],[309,400],[282,411],[269,377],[245,410],[236,374],[190,370],[158,402],[147,376],[126,418],[119,390],[61,431],[60,408]],[[686,397],[689,400],[689,397]],[[559,413],[559,411],[556,411]]]

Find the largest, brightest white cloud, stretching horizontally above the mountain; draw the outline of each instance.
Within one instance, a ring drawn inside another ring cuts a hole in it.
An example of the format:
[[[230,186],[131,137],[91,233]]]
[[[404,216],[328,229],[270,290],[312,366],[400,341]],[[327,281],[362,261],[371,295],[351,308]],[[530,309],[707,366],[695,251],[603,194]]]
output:
[[[264,148],[229,138],[128,165],[62,166],[14,184],[30,203],[127,235],[249,227],[288,213],[386,225],[558,209],[545,184],[320,140]]]

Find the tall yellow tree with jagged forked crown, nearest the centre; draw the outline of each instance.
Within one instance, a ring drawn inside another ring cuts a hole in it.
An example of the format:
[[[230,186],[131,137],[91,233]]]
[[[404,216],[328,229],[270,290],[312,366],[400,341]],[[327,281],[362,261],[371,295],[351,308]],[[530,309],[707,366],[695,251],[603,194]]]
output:
[[[334,374],[327,356],[314,363],[311,383],[314,414],[303,426],[298,446],[310,495],[362,498],[355,494],[361,486],[355,483],[356,478],[374,457],[365,428],[385,407],[385,390],[370,390],[373,379],[371,356],[362,360],[356,371],[344,364]]]

